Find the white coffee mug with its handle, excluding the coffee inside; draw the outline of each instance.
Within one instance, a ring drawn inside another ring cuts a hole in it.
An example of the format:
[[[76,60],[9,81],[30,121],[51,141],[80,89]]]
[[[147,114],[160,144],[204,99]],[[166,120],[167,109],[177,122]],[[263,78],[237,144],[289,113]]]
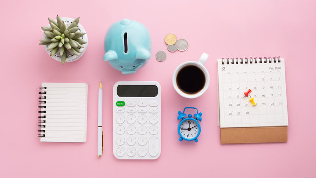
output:
[[[172,84],[173,84],[173,88],[177,91],[178,94],[180,94],[180,96],[185,97],[185,98],[189,98],[189,99],[193,99],[193,98],[197,98],[205,93],[205,91],[207,90],[207,88],[209,86],[209,74],[204,66],[207,59],[208,59],[208,55],[206,53],[203,53],[202,56],[199,58],[198,62],[187,61],[187,62],[180,64],[176,68],[176,70],[174,71],[173,76],[172,76]],[[177,84],[177,75],[178,75],[179,71],[186,66],[196,66],[197,68],[199,68],[203,72],[203,74],[205,76],[204,87],[200,91],[198,91],[197,93],[193,93],[193,94],[185,93],[179,88],[179,86]]]

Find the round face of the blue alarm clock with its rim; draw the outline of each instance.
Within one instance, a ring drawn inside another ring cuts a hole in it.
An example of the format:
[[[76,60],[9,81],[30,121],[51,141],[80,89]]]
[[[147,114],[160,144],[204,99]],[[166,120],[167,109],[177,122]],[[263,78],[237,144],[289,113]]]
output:
[[[178,132],[183,139],[194,140],[200,134],[201,126],[197,120],[186,118],[179,123]]]

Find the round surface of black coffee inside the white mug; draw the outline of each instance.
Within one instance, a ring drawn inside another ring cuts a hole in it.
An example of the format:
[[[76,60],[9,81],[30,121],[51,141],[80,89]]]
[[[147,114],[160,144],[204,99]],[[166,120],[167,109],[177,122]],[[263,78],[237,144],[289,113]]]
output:
[[[178,88],[187,94],[196,94],[205,86],[205,75],[197,66],[183,67],[177,75]]]

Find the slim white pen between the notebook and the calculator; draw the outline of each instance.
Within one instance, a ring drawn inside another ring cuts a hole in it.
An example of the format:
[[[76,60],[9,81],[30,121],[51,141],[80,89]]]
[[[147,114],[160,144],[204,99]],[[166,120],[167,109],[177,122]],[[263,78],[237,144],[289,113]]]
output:
[[[102,82],[100,81],[99,99],[98,99],[98,156],[103,153],[103,131],[102,131]]]

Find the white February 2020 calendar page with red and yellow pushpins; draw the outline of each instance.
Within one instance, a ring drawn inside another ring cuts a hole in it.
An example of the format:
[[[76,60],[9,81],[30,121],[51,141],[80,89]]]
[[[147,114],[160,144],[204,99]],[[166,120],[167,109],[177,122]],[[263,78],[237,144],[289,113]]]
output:
[[[219,122],[226,127],[287,126],[284,59],[218,59]]]

